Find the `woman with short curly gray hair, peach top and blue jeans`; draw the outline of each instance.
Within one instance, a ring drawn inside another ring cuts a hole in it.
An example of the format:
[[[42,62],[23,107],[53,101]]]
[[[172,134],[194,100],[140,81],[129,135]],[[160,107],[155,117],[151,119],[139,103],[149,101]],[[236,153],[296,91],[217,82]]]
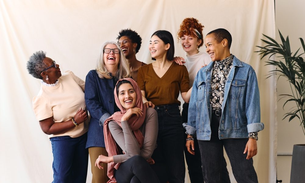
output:
[[[59,65],[43,51],[30,56],[27,70],[42,80],[40,91],[33,98],[33,109],[52,144],[53,182],[86,182],[89,120],[85,82],[71,71],[62,75]]]

